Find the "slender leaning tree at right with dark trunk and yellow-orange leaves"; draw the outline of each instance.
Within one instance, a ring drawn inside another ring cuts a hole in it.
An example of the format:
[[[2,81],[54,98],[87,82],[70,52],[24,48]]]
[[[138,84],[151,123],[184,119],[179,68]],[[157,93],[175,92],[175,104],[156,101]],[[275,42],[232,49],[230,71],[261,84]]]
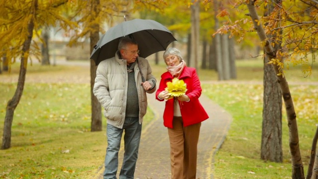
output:
[[[259,10],[261,4],[266,4],[267,0],[237,0],[236,2],[236,8],[239,8],[239,6],[247,7],[248,12],[246,14],[248,14],[249,18],[224,25],[219,29],[218,33],[230,32],[240,36],[246,32],[241,28],[243,22],[251,25],[248,31],[257,33],[264,47],[264,55],[269,59],[268,64],[274,69],[285,103],[293,169],[292,178],[305,179],[299,148],[296,111],[289,85],[284,75],[284,69],[285,65],[288,67],[290,63],[302,65],[304,74],[311,75],[311,64],[315,60],[314,54],[318,50],[316,42],[318,37],[317,1],[273,1],[276,2],[275,8],[266,18],[260,16],[257,10]],[[266,26],[264,26],[265,22],[267,23]],[[281,31],[281,33],[277,33],[277,31]],[[271,40],[268,35],[271,35]],[[275,48],[277,44],[281,44],[281,47]]]

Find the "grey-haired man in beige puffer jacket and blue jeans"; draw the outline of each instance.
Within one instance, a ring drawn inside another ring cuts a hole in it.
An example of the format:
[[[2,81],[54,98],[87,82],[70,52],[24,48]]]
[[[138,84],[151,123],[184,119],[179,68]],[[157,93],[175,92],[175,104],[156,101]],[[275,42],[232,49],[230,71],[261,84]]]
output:
[[[116,179],[123,131],[125,153],[119,179],[134,178],[142,122],[147,111],[146,92],[156,91],[156,79],[149,62],[138,53],[137,42],[122,37],[115,57],[100,62],[97,67],[93,93],[107,118],[104,179]]]

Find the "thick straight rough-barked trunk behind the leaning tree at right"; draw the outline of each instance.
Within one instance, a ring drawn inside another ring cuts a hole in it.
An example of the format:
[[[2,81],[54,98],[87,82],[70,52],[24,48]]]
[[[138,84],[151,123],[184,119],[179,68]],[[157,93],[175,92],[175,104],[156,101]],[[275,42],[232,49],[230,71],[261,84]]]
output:
[[[279,0],[276,0],[277,3]],[[269,7],[269,8],[267,8]],[[268,16],[274,9],[274,3],[268,2],[264,6],[264,16]],[[276,35],[274,35],[276,36]],[[272,35],[267,35],[271,39]],[[281,48],[275,43],[274,50]],[[271,162],[283,162],[282,150],[282,94],[277,84],[276,74],[268,65],[268,56],[264,57],[264,95],[263,95],[263,123],[261,159]]]

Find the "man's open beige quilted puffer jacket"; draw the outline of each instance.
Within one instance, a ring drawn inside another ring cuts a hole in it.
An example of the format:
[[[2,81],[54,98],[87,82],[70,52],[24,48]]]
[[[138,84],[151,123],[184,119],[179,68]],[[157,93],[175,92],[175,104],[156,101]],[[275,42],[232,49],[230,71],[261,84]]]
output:
[[[156,79],[152,75],[152,69],[148,60],[138,57],[142,74],[146,81],[153,87],[156,86]],[[147,112],[147,95],[156,91],[156,87],[146,91],[141,86],[142,78],[138,65],[135,65],[135,81],[139,99],[139,123]],[[115,57],[103,60],[98,64],[96,71],[93,93],[104,108],[104,116],[107,124],[122,128],[125,120],[128,73],[127,61],[119,59],[118,53]]]

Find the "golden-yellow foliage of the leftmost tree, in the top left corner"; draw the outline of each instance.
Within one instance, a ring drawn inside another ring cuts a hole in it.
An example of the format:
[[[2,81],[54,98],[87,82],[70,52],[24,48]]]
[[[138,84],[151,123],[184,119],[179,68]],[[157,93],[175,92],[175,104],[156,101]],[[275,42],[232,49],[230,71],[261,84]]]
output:
[[[27,61],[29,54],[36,56],[40,54],[37,43],[42,41],[40,32],[43,27],[55,26],[57,23],[64,29],[77,27],[76,23],[68,20],[63,14],[65,0],[39,0],[36,8],[34,8],[34,2],[34,0],[1,0],[0,2],[0,16],[5,19],[0,24],[0,43],[2,44],[0,56],[5,55],[7,59],[13,59],[8,62],[8,65],[14,63],[17,58],[24,57]],[[35,48],[23,54],[21,47],[30,36],[27,28],[31,21],[34,24],[31,45]]]

